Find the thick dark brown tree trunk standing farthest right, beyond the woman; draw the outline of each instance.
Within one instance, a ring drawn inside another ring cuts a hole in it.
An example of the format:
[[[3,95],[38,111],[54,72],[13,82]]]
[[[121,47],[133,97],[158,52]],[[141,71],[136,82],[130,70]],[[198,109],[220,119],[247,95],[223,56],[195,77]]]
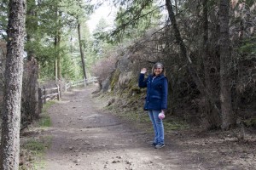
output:
[[[231,104],[231,77],[230,77],[230,27],[229,27],[230,1],[220,0],[219,21],[220,21],[220,103],[222,111],[222,129],[226,130],[235,125],[236,118],[232,111]]]

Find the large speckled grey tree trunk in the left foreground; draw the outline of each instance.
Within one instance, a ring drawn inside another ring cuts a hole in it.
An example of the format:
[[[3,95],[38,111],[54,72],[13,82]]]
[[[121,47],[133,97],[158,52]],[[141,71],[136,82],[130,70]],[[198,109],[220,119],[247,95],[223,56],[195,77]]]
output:
[[[18,170],[20,155],[20,99],[24,54],[26,1],[9,1],[8,51],[3,92],[1,170]]]

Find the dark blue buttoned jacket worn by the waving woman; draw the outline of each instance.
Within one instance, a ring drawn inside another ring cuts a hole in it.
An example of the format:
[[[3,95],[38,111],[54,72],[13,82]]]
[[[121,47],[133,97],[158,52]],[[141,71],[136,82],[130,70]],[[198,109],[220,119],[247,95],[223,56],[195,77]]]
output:
[[[155,77],[149,75],[144,78],[144,74],[140,74],[138,86],[139,88],[147,88],[147,97],[144,105],[144,110],[166,110],[167,108],[167,94],[168,82],[164,75]]]

